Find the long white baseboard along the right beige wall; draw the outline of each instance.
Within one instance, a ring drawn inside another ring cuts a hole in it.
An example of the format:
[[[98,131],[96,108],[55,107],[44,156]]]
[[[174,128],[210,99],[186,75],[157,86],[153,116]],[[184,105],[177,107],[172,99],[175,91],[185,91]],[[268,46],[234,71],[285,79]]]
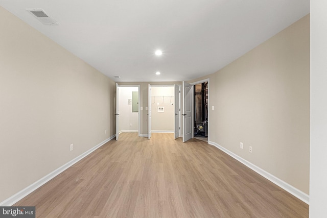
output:
[[[215,146],[216,148],[220,149],[221,151],[225,152],[226,154],[228,154],[229,156],[231,156],[232,158],[240,161],[241,163],[243,163],[244,165],[246,165],[247,167],[249,167],[250,169],[252,169],[253,171],[255,171],[256,173],[260,174],[261,176],[265,177],[266,179],[268,179],[269,181],[273,182],[274,184],[278,185],[279,187],[283,188],[284,190],[286,190],[287,192],[291,193],[293,196],[295,196],[296,198],[298,198],[299,200],[305,202],[306,204],[309,205],[309,195],[306,194],[305,192],[295,188],[294,186],[284,182],[283,180],[275,177],[274,175],[264,171],[264,169],[254,165],[253,163],[243,159],[242,157],[228,151],[227,149],[225,149],[224,147],[220,146],[219,144],[213,142],[213,141],[208,141],[209,144]]]

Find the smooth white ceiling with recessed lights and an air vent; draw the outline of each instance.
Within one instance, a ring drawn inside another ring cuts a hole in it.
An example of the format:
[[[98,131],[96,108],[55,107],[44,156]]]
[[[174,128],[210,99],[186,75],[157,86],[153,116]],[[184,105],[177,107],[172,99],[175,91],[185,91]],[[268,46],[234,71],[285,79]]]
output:
[[[0,0],[0,5],[118,82],[212,74],[309,13],[309,0]],[[43,9],[59,25],[45,26],[26,9]],[[155,56],[157,49],[164,54]]]

